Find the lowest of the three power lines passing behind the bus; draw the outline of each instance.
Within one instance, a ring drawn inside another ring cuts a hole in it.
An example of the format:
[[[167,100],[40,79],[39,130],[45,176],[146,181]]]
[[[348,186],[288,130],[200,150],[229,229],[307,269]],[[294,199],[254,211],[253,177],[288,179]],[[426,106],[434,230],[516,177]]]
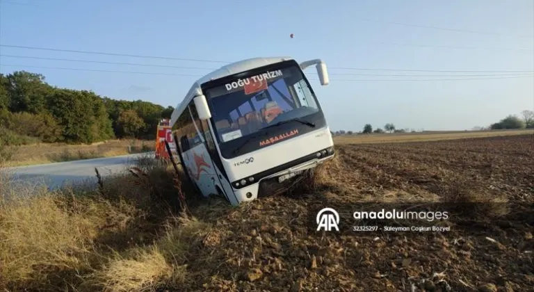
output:
[[[111,73],[128,73],[128,74],[149,74],[149,75],[165,75],[165,76],[196,76],[201,77],[200,74],[178,74],[178,73],[159,73],[159,72],[132,72],[132,71],[117,71],[117,70],[96,70],[96,69],[83,69],[83,68],[71,68],[71,67],[46,67],[46,66],[27,66],[27,65],[15,65],[15,64],[0,64],[0,66],[12,66],[12,67],[29,67],[29,68],[41,68],[41,69],[54,69],[54,70],[75,70],[75,71],[87,71],[87,72],[111,72]],[[464,81],[464,80],[486,80],[486,79],[510,79],[521,77],[534,77],[534,74],[518,74],[516,76],[494,76],[486,78],[462,78],[462,79],[330,79],[332,81],[355,81],[355,82],[396,82],[396,81]],[[318,81],[318,79],[309,79]]]

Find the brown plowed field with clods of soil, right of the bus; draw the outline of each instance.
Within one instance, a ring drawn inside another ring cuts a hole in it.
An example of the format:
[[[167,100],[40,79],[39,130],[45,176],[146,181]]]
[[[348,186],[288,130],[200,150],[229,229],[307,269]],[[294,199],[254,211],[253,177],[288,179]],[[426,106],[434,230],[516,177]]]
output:
[[[316,172],[315,184],[236,209],[193,208],[199,220],[216,228],[190,247],[186,284],[167,288],[532,291],[534,287],[533,135],[339,145],[336,159]],[[526,206],[523,217],[513,222],[506,216],[475,221],[472,232],[467,226],[444,234],[317,236],[307,229],[308,216],[315,216],[308,210],[332,204],[507,201]]]

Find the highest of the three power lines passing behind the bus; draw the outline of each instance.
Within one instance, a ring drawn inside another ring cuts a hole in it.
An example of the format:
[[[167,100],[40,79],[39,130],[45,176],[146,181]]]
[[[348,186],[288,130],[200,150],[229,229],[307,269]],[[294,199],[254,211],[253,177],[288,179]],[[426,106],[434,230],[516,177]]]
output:
[[[131,54],[118,54],[118,53],[105,53],[99,51],[78,51],[78,50],[67,50],[67,49],[53,49],[53,48],[43,48],[43,47],[26,47],[26,46],[17,46],[11,44],[0,44],[0,47],[11,47],[11,48],[21,48],[21,49],[37,49],[37,50],[49,50],[49,51],[67,51],[67,52],[76,52],[82,54],[99,54],[99,55],[110,55],[110,56],[129,56],[136,58],[156,58],[163,60],[192,60],[198,62],[216,62],[216,63],[232,63],[228,61],[221,60],[203,60],[203,59],[190,59],[190,58],[173,58],[173,57],[162,57],[162,56],[146,56],[146,55],[131,55]],[[37,58],[37,57],[33,57]],[[100,61],[95,61],[99,62]],[[130,65],[129,63],[124,63],[124,65]],[[133,65],[133,64],[131,64]],[[137,64],[136,64],[137,65]],[[163,67],[163,65],[157,65],[157,67]],[[165,66],[166,67],[166,66]],[[185,68],[185,67],[184,67]],[[216,70],[215,68],[196,68],[190,67],[191,69],[207,69],[207,70]],[[412,70],[412,69],[378,69],[378,68],[361,68],[361,67],[332,67],[328,66],[330,69],[341,69],[341,70],[365,70],[365,71],[397,71],[397,72],[463,72],[463,73],[506,73],[506,72],[534,72],[534,70]]]

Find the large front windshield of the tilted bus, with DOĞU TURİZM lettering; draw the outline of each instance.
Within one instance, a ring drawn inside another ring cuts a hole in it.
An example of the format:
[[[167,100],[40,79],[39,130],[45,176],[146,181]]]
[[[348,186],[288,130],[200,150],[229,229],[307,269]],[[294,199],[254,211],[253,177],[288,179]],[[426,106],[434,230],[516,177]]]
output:
[[[299,67],[266,70],[206,90],[218,142],[254,136],[273,124],[321,111]],[[322,115],[321,115],[322,116]],[[282,122],[282,123],[280,123]]]

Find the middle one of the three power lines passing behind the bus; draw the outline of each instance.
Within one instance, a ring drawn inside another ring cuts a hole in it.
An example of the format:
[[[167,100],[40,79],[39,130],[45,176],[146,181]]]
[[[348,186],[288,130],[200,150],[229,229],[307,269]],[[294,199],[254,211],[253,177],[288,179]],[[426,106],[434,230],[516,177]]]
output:
[[[133,65],[133,66],[144,66],[144,67],[166,67],[166,68],[176,68],[176,69],[200,69],[200,70],[217,70],[218,68],[208,68],[208,67],[185,67],[185,66],[175,66],[175,65],[154,65],[154,64],[139,64],[139,63],[122,63],[122,62],[106,62],[99,60],[79,60],[79,59],[65,59],[65,58],[47,58],[47,57],[36,57],[36,56],[19,56],[19,55],[6,55],[0,54],[0,56],[9,57],[9,58],[30,58],[38,60],[60,60],[68,62],[80,62],[80,63],[101,63],[101,64],[110,64],[110,65]],[[534,72],[534,71],[531,71]],[[428,75],[428,74],[358,74],[358,73],[330,73],[330,75],[350,75],[350,76],[406,76],[406,77],[415,77],[415,76],[426,76],[426,77],[461,77],[461,76],[499,76],[499,75],[508,75],[508,74],[467,74],[467,75]]]

